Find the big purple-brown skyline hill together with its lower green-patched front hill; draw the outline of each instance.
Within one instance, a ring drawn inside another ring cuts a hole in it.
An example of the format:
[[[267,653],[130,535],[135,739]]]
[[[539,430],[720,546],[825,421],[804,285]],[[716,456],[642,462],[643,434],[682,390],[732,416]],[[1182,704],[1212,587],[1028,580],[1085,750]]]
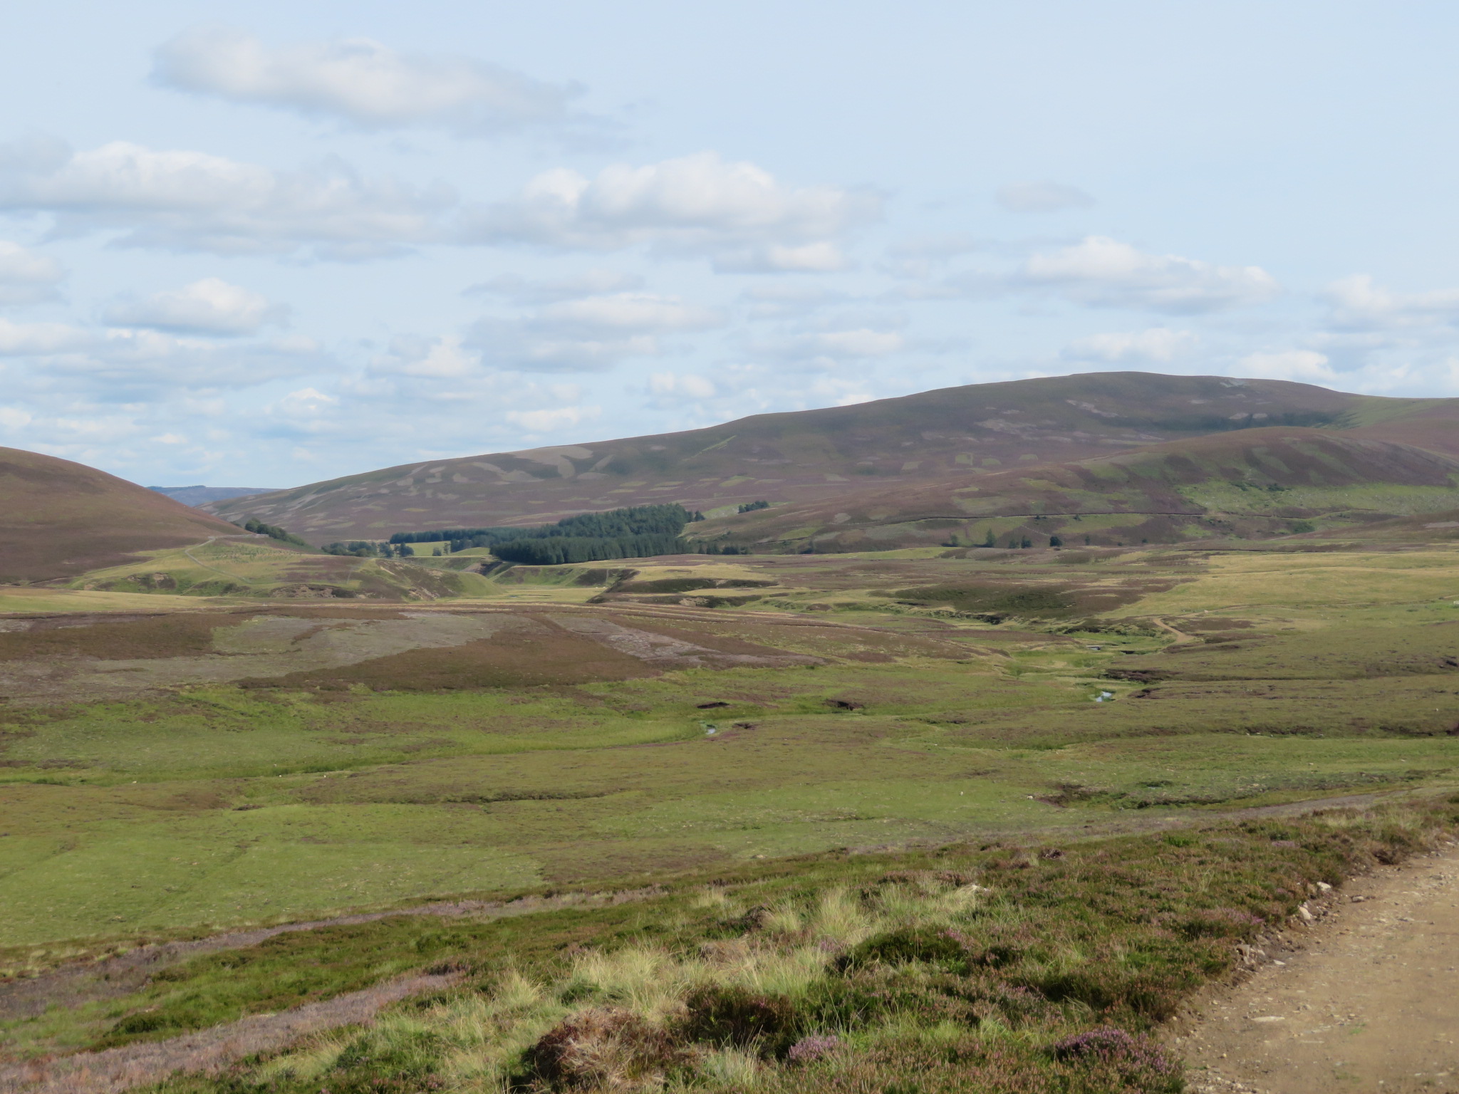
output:
[[[1456,459],[1459,400],[1115,372],[391,467],[206,508],[314,543],[654,502],[706,512],[696,535],[762,550],[926,544],[938,528],[982,541],[988,527],[969,518],[994,516],[995,535],[1023,516],[1048,535],[1055,513],[1078,513],[1091,543],[1163,543],[1452,509]],[[1274,489],[1258,497],[1252,484]],[[775,508],[735,515],[757,499]]]

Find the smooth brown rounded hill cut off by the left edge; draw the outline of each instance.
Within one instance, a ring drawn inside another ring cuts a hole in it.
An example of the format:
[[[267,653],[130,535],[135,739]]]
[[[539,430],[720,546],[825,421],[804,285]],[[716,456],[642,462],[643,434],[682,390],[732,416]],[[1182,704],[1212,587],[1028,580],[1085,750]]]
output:
[[[66,578],[239,529],[70,459],[0,448],[0,582]]]

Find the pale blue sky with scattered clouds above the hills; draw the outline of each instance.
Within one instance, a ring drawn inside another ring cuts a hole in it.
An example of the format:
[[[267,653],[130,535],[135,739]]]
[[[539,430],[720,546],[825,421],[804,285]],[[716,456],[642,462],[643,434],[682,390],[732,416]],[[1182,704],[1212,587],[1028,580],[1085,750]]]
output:
[[[289,487],[1134,369],[1459,395],[1459,7],[51,0],[0,445]]]

